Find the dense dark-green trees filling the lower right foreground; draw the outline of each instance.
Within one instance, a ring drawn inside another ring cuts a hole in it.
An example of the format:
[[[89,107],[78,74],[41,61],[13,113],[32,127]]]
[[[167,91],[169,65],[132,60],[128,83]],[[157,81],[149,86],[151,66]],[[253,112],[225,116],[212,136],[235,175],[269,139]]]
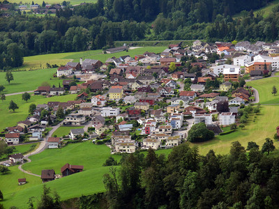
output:
[[[168,157],[148,150],[126,155],[121,167],[105,174],[108,208],[278,208],[279,157],[266,139],[259,150],[232,143],[228,155],[206,156],[187,143]],[[116,175],[117,173],[117,175]]]

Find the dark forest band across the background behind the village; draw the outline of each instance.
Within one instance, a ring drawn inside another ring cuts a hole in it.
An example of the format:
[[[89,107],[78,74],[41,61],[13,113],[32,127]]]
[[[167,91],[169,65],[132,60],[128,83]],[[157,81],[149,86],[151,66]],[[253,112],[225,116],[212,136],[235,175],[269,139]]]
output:
[[[251,10],[266,2],[99,0],[56,17],[10,13],[0,17],[0,69],[22,65],[23,56],[113,47],[115,40],[276,40],[279,9],[266,19]],[[242,10],[250,13],[233,20]]]

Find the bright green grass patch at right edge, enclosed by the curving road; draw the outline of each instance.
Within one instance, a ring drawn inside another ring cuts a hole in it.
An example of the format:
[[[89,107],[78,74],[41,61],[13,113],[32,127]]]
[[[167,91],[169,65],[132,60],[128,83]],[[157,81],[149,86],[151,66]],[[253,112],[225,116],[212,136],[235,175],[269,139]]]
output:
[[[279,93],[275,96],[271,93],[273,86],[276,86],[277,90],[279,91],[279,77],[258,79],[252,82],[247,82],[247,85],[257,89],[259,92],[259,102],[261,104],[279,103]]]

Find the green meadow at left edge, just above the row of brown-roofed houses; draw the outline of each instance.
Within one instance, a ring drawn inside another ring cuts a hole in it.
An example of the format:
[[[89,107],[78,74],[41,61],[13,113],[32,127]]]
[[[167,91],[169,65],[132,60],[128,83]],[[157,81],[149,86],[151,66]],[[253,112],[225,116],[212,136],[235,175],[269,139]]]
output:
[[[45,70],[19,71],[13,72],[14,80],[8,84],[5,79],[6,72],[0,72],[0,85],[5,86],[3,93],[16,93],[23,91],[33,91],[43,82],[49,83],[51,86],[62,86],[63,80],[54,78],[52,75],[56,73],[56,68]]]

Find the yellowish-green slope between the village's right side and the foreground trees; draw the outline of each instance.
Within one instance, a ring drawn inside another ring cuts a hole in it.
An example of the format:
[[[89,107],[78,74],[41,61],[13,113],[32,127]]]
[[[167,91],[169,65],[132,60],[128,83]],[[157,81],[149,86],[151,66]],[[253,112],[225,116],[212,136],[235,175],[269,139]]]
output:
[[[249,123],[243,130],[238,128],[236,132],[231,134],[192,145],[197,145],[199,153],[202,155],[206,155],[211,149],[217,154],[227,154],[233,141],[239,141],[244,147],[247,147],[248,141],[255,141],[262,147],[267,137],[273,139],[273,134],[276,133],[276,127],[279,125],[279,118],[276,117],[278,115],[279,107],[277,105],[262,106],[255,122],[252,122],[254,116],[251,116]],[[278,146],[278,142],[275,143],[275,146]]]

